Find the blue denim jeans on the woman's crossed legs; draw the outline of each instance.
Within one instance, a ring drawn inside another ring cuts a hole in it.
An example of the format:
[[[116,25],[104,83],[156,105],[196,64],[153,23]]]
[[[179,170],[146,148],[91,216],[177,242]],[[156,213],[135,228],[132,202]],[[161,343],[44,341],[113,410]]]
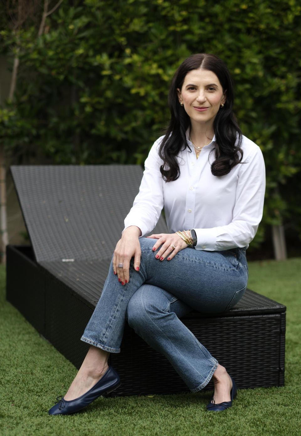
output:
[[[160,261],[155,241],[140,238],[139,271],[130,264],[129,283],[122,285],[111,263],[101,298],[82,341],[111,353],[120,352],[125,320],[151,347],[171,362],[192,392],[210,381],[218,362],[179,320],[195,309],[217,313],[233,307],[247,286],[245,249],[181,250]]]

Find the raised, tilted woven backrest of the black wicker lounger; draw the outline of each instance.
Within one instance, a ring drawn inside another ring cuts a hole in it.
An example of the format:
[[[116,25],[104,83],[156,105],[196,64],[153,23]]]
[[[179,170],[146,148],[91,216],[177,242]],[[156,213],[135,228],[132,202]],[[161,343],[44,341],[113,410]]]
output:
[[[138,165],[13,166],[37,262],[112,256],[142,178]],[[161,232],[167,232],[159,222]]]

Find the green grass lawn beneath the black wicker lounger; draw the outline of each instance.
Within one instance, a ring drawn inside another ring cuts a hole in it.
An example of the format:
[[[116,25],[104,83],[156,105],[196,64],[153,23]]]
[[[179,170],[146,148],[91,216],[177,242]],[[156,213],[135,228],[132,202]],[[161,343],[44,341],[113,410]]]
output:
[[[287,306],[284,387],[240,390],[221,413],[206,412],[211,393],[201,392],[100,398],[78,414],[49,416],[76,369],[5,301],[1,266],[0,434],[301,435],[301,259],[251,262],[249,270],[250,289]]]

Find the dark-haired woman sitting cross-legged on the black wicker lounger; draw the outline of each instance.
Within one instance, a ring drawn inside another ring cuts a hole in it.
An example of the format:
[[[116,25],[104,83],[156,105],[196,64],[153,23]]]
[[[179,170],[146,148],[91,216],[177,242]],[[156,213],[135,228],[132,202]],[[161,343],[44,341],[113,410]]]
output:
[[[230,74],[216,56],[195,54],[180,65],[169,106],[169,128],[145,161],[139,194],[81,338],[91,347],[51,415],[77,412],[119,386],[108,356],[120,351],[125,320],[169,359],[192,392],[213,379],[207,410],[225,410],[236,396],[226,368],[179,317],[191,307],[229,310],[243,296],[245,249],[263,210],[264,161],[236,123]],[[141,238],[163,207],[170,233]]]

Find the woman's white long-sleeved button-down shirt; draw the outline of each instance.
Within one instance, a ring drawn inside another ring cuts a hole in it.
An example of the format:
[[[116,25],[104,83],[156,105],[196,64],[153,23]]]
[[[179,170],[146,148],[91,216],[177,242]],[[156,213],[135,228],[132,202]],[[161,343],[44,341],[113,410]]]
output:
[[[155,227],[164,207],[170,233],[194,228],[197,250],[227,250],[247,246],[254,238],[262,218],[265,191],[264,159],[260,148],[243,136],[243,162],[229,174],[213,176],[215,136],[196,159],[193,145],[178,156],[180,176],[165,182],[158,155],[161,136],[145,160],[145,170],[125,228],[136,225],[142,236]]]

